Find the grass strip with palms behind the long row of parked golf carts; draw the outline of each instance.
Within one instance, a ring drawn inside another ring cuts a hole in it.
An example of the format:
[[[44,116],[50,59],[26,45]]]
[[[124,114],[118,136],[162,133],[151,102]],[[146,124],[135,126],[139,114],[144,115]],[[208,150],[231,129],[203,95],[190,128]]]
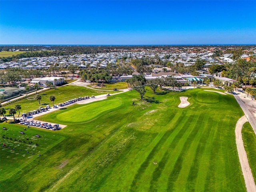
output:
[[[52,106],[52,102],[50,102],[49,97],[51,95],[54,95],[56,97],[56,100],[54,101],[54,104],[59,104],[65,101],[68,101],[70,99],[82,97],[82,96],[96,96],[100,94],[106,94],[104,91],[97,91],[88,89],[82,86],[74,86],[74,85],[67,85],[63,87],[58,87],[56,89],[48,90],[45,92],[40,93],[42,99],[40,100],[40,104],[38,100],[35,99],[35,96],[30,96],[28,98],[24,98],[22,100],[19,100],[17,102],[14,102],[12,104],[9,104],[7,106],[4,106],[4,108],[7,111],[9,108],[14,108],[16,104],[20,104],[21,110],[20,114],[29,112],[31,110],[38,109],[39,106],[45,107],[46,105]],[[18,116],[18,112],[16,114]]]

